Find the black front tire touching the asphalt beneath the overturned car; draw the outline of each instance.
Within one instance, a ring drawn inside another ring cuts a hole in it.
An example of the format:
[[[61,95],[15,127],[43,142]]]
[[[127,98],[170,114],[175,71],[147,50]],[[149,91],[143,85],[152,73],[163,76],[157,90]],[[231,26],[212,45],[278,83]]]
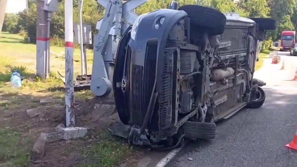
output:
[[[213,122],[186,121],[182,128],[187,138],[214,139],[216,135],[216,124]]]

